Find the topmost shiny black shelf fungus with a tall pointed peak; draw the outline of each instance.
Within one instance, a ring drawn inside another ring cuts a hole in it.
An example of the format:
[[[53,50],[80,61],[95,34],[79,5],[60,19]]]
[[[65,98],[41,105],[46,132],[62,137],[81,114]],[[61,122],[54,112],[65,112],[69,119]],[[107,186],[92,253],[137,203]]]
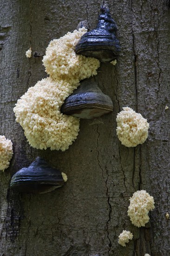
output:
[[[120,51],[116,32],[117,25],[105,4],[101,7],[97,27],[81,37],[75,48],[76,54],[94,57],[101,62],[115,60]]]

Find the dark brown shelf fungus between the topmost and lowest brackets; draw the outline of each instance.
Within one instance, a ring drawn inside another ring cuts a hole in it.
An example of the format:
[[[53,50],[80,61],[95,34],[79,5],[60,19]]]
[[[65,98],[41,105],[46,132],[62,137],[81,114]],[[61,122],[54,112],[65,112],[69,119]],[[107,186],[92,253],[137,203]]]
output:
[[[99,117],[111,111],[113,111],[111,98],[102,93],[93,78],[82,81],[61,107],[63,114],[83,119]]]

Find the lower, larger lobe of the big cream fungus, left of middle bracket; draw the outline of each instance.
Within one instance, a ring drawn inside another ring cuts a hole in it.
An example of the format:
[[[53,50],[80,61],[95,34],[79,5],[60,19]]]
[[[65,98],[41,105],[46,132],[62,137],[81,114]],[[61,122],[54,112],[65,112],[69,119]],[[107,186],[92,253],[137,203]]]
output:
[[[33,148],[64,151],[77,138],[79,119],[60,113],[69,88],[68,83],[54,82],[48,77],[29,88],[18,100],[14,108],[16,121],[20,122]]]

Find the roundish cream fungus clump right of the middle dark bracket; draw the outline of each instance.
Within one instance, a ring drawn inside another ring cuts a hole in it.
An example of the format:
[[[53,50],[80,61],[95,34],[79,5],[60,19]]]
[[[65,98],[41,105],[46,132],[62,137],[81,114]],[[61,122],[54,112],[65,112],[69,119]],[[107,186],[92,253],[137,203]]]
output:
[[[149,123],[141,114],[132,108],[125,107],[117,115],[118,139],[126,147],[136,147],[144,143],[148,137]]]

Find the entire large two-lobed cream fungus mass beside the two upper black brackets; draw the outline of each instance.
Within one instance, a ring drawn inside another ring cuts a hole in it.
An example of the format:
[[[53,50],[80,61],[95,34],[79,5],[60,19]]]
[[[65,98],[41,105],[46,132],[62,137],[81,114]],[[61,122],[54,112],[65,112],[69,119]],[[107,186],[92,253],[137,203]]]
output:
[[[43,59],[50,77],[29,88],[13,109],[33,148],[64,151],[77,138],[79,119],[63,115],[60,107],[80,80],[97,74],[98,60],[74,52],[85,32],[81,28],[50,42]]]

